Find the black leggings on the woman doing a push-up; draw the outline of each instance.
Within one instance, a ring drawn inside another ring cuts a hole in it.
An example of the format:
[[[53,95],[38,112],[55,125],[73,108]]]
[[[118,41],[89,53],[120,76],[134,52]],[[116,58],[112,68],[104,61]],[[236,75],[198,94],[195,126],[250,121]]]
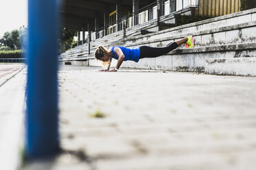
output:
[[[149,47],[142,45],[140,46],[140,58],[156,58],[169,53],[177,47],[178,45],[176,42],[171,42],[166,47]]]

